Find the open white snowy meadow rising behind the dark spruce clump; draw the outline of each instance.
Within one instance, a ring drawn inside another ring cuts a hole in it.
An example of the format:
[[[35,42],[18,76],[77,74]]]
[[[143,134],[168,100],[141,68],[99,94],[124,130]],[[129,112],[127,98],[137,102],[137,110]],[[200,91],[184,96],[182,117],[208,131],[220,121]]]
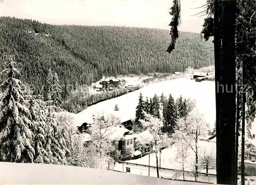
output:
[[[138,104],[140,92],[145,98],[153,97],[154,94],[161,95],[162,92],[168,96],[170,93],[176,99],[191,98],[197,100],[197,108],[204,115],[205,120],[209,123],[211,129],[215,122],[215,83],[212,81],[195,82],[187,78],[151,83],[145,87],[130,92],[129,94],[106,100],[95,105],[89,106],[83,111],[75,114],[76,124],[92,122],[92,114],[95,112],[114,112],[117,104],[119,112],[126,118],[135,118],[135,110]]]

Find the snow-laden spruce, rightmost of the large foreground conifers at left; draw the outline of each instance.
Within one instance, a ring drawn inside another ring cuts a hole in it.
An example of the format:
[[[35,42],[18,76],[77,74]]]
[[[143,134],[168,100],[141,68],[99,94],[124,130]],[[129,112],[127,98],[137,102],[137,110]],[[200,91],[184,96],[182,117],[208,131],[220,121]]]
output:
[[[45,148],[50,164],[66,164],[66,145],[61,136],[61,128],[59,128],[59,123],[55,114],[54,107],[48,106]]]

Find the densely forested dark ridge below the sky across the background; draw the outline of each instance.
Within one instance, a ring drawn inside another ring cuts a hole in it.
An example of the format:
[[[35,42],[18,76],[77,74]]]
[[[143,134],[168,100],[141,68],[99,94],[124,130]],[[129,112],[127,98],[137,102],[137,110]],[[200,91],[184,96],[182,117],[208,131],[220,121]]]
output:
[[[36,94],[46,84],[49,68],[65,86],[91,84],[102,75],[171,73],[214,63],[212,43],[196,33],[181,32],[169,55],[167,30],[57,26],[11,17],[0,17],[0,27],[1,63],[4,55],[15,55],[22,80]]]

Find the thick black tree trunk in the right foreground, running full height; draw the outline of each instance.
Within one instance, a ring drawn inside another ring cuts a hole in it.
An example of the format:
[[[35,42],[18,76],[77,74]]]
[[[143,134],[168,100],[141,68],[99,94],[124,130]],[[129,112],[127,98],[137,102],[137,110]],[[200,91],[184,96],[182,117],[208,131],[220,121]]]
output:
[[[216,0],[214,16],[217,183],[233,184],[236,127],[236,0]]]

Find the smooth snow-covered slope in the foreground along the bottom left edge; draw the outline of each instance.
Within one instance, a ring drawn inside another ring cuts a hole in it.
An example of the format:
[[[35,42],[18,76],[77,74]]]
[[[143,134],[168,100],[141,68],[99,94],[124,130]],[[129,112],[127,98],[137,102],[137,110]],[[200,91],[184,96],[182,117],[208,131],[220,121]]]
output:
[[[1,184],[194,184],[66,165],[0,162]],[[200,183],[201,184],[201,183]],[[202,184],[203,185],[203,184]]]

